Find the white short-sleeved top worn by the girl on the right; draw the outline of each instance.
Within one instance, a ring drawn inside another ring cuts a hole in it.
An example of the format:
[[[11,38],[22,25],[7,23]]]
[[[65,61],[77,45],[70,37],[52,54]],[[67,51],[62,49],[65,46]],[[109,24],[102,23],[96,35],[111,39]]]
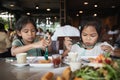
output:
[[[107,42],[103,42],[103,43],[97,43],[94,46],[94,48],[91,50],[86,50],[86,49],[80,47],[78,44],[74,44],[71,48],[71,52],[77,52],[79,56],[88,56],[88,57],[98,56],[99,54],[104,54],[104,51],[101,49],[101,45],[111,46]]]

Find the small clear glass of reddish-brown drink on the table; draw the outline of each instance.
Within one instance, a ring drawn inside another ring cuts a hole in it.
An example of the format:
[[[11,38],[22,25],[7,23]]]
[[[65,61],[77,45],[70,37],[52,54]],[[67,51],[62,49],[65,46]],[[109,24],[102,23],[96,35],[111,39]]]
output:
[[[52,55],[52,62],[54,65],[54,68],[61,66],[61,55],[60,54],[53,54]]]

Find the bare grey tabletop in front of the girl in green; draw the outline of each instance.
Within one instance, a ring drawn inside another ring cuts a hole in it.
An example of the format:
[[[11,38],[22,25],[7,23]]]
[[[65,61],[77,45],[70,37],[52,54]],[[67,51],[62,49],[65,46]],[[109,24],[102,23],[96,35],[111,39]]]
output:
[[[60,76],[63,70],[68,66],[61,64],[60,67],[53,66],[16,66],[12,63],[16,58],[0,58],[0,80],[41,80],[41,77],[47,72],[53,72],[55,76]]]

